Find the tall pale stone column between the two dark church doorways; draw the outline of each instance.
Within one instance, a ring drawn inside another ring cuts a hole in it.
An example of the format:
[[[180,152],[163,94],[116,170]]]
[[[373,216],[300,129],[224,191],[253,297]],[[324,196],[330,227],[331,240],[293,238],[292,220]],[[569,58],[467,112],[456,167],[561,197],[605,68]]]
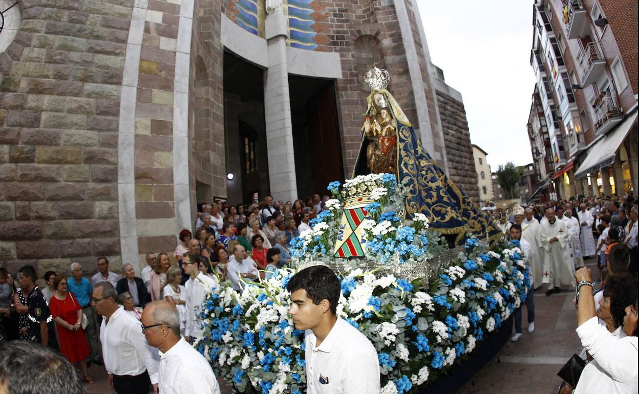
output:
[[[264,82],[268,178],[274,199],[294,201],[298,195],[286,63],[288,28],[281,7],[266,17],[265,33],[268,43],[268,69]]]

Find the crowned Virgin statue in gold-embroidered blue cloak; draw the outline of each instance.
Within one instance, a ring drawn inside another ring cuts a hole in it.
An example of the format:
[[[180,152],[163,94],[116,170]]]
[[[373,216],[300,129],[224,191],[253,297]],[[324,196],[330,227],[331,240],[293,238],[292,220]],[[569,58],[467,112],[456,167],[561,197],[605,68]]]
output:
[[[366,73],[371,94],[362,126],[362,145],[353,177],[371,173],[395,174],[406,188],[405,215],[423,213],[431,229],[447,235],[455,244],[466,232],[495,239],[503,233],[493,220],[451,181],[422,148],[413,126],[386,89],[390,76],[373,67]]]

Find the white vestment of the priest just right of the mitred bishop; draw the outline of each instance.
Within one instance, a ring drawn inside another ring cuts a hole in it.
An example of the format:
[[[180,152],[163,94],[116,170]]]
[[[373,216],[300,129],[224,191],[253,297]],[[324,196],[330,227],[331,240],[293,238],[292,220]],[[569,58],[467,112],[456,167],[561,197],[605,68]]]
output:
[[[541,224],[539,238],[544,259],[543,282],[550,283],[555,287],[573,286],[574,262],[567,258],[568,229],[566,223],[559,218],[555,218],[555,222],[552,224],[546,220]],[[557,241],[550,243],[551,238],[557,238]]]

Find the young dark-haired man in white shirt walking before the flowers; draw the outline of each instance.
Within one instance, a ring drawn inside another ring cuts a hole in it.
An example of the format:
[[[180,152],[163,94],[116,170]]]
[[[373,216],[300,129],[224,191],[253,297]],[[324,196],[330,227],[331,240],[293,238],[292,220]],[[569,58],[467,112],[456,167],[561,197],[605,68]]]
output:
[[[371,341],[336,315],[339,279],[327,266],[311,266],[286,285],[293,323],[306,330],[307,394],[380,393],[380,363]]]

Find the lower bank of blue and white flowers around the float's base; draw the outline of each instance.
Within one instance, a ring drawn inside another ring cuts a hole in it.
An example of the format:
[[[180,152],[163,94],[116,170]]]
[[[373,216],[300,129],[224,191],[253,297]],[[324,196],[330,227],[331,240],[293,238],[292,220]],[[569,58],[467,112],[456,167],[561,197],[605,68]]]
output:
[[[376,347],[382,393],[415,393],[463,363],[525,301],[530,280],[517,241],[487,250],[468,238],[464,250],[428,283],[362,269],[338,274],[337,314]],[[304,332],[288,315],[292,275],[280,269],[241,294],[222,284],[203,303],[196,347],[237,391],[305,391]]]

